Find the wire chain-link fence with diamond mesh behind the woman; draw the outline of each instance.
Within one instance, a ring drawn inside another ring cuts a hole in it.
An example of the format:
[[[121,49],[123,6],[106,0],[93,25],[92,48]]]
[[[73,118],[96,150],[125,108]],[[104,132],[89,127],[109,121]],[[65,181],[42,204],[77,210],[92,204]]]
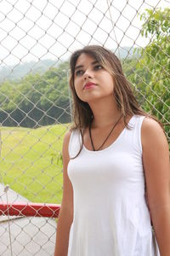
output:
[[[68,60],[84,45],[118,55],[141,106],[161,120],[169,141],[169,17],[167,0],[0,1],[3,206],[60,204],[60,152],[71,124]],[[53,255],[53,214],[35,218],[41,214],[22,210],[11,216],[1,208],[0,254]]]

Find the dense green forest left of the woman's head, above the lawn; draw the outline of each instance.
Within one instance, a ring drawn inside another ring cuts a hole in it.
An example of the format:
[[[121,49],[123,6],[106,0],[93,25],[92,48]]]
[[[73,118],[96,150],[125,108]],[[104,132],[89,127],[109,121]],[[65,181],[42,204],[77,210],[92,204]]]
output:
[[[68,62],[43,73],[28,74],[17,83],[0,84],[0,122],[6,126],[37,127],[67,123],[69,113]],[[65,108],[67,112],[65,112]]]

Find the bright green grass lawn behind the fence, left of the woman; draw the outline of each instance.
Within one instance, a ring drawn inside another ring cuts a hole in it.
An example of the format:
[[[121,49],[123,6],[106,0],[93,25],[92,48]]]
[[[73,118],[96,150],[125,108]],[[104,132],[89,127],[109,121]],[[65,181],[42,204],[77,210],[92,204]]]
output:
[[[60,203],[62,163],[57,155],[67,129],[68,125],[2,127],[0,183],[9,184],[29,201]]]

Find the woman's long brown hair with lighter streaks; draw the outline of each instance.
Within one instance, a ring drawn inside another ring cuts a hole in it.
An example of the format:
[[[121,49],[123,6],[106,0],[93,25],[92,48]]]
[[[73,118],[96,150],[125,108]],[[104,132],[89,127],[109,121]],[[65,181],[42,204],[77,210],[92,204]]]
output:
[[[116,55],[109,49],[105,49],[99,45],[89,45],[82,49],[78,49],[71,55],[70,68],[70,86],[71,93],[73,96],[73,117],[74,125],[73,128],[77,128],[79,131],[88,127],[93,119],[93,112],[89,107],[87,102],[82,102],[82,100],[77,96],[77,92],[74,86],[75,77],[75,66],[77,59],[80,55],[87,54],[94,57],[99,64],[104,67],[111,75],[115,81],[113,96],[116,98],[117,108],[122,113],[124,124],[127,127],[127,116],[133,116],[133,114],[147,115],[142,108],[139,107],[135,96],[133,96],[133,90],[131,85],[127,81],[125,75],[122,72],[122,65]]]

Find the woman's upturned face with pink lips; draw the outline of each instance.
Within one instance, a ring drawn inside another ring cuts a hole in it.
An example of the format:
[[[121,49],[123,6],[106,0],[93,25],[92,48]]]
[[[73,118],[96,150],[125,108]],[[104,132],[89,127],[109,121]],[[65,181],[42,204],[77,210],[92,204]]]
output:
[[[82,102],[113,98],[114,80],[93,56],[82,53],[76,63],[74,86]]]

